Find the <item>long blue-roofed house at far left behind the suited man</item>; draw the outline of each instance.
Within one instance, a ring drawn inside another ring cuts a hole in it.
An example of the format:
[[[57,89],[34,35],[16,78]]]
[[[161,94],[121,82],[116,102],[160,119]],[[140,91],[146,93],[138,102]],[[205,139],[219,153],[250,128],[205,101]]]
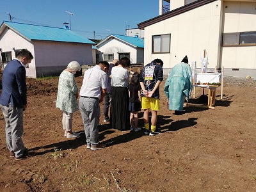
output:
[[[26,68],[28,77],[58,76],[70,61],[92,64],[94,42],[63,28],[4,21],[0,26],[1,61],[6,64],[20,49],[34,59]]]

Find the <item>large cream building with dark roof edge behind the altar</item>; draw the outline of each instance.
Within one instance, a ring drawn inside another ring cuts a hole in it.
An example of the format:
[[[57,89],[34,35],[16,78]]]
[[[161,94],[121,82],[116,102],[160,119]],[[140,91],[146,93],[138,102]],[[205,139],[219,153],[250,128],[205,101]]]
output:
[[[163,0],[159,1],[159,6]],[[226,76],[256,77],[256,2],[253,0],[171,0],[170,12],[138,24],[144,29],[144,60],[164,61],[164,74],[188,55],[200,68],[204,49],[208,68]],[[160,13],[160,12],[159,12]]]

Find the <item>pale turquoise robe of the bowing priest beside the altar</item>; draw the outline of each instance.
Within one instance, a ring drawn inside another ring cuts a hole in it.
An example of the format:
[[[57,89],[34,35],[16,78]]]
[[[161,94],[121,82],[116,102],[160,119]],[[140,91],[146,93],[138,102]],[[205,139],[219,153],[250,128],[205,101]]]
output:
[[[179,63],[172,68],[164,87],[166,97],[169,99],[168,109],[182,111],[184,95],[186,99],[192,92],[192,72],[186,63]]]

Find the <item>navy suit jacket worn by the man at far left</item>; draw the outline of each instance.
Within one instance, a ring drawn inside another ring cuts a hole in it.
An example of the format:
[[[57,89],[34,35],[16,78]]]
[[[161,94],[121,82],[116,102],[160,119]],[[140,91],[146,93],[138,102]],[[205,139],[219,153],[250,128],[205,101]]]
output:
[[[19,60],[10,61],[3,71],[0,104],[23,108],[27,104],[26,69]]]

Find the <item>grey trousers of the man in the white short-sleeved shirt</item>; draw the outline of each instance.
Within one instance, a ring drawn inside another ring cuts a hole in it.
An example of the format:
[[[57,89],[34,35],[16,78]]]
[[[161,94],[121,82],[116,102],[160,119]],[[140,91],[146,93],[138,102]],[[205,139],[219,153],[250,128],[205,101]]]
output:
[[[84,124],[84,133],[87,145],[99,144],[99,121],[100,105],[99,100],[94,98],[80,97],[79,109]]]

